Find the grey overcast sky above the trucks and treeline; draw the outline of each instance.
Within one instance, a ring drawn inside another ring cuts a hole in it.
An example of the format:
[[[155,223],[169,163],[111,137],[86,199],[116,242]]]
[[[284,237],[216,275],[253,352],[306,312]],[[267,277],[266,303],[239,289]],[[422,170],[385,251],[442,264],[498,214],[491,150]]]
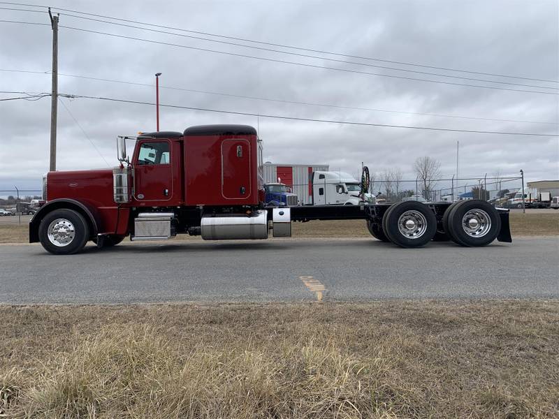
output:
[[[32,0],[26,2],[29,1]],[[359,57],[559,80],[559,10],[556,0],[99,0],[53,1],[50,6]],[[2,4],[0,7],[17,8]],[[14,10],[0,10],[0,20],[49,22],[45,13]],[[546,81],[458,73],[268,46],[342,61],[536,87],[358,66],[324,58],[298,57],[158,34],[67,15],[60,16],[60,25],[368,73],[551,93],[557,93],[559,87],[557,83]],[[51,36],[50,26],[0,23],[0,68],[50,71]],[[212,39],[224,41],[224,38]],[[59,72],[150,84],[138,86],[61,75],[59,92],[66,94],[153,102],[154,73],[161,72],[162,87],[375,110],[297,105],[163,88],[161,103],[170,105],[369,124],[522,133],[559,131],[557,94],[465,87],[282,64],[67,28],[59,31]],[[49,74],[0,71],[0,78],[2,91],[50,92]],[[20,95],[0,94],[0,98],[13,96]],[[117,163],[117,135],[133,135],[138,131],[155,129],[155,109],[150,105],[85,98],[61,98],[61,101],[85,133],[64,106],[59,104],[59,170],[114,166]],[[559,179],[558,137],[425,131],[266,117],[258,120],[257,117],[245,115],[161,108],[161,130],[183,131],[192,125],[224,123],[259,126],[265,160],[275,163],[328,164],[335,170],[356,173],[363,161],[372,171],[399,167],[405,177],[414,179],[414,160],[427,155],[441,162],[442,175],[451,177],[456,172],[456,142],[459,141],[461,176],[491,175],[498,170],[502,175],[516,175],[523,168],[528,180]],[[50,98],[34,102],[1,101],[0,125],[0,189],[13,189],[13,185],[22,189],[40,187],[41,176],[48,170]]]

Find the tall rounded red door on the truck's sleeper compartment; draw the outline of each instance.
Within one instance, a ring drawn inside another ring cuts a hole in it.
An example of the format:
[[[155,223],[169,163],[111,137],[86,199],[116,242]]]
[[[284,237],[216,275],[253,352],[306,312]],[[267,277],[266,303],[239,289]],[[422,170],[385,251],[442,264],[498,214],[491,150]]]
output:
[[[245,138],[222,141],[222,196],[237,200],[249,198],[251,191],[250,142]]]

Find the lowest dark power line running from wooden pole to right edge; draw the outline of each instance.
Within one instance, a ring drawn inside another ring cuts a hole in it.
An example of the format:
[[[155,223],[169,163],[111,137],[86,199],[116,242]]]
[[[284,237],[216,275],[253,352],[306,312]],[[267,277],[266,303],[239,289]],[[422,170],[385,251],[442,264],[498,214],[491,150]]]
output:
[[[59,96],[67,98],[87,98],[87,99],[97,99],[101,101],[112,101],[112,102],[122,102],[122,103],[135,103],[138,105],[151,105],[154,106],[155,103],[143,102],[143,101],[131,101],[126,99],[118,98],[107,98],[103,96],[84,96],[84,95],[74,95],[74,94],[59,94]],[[394,125],[394,124],[370,124],[366,122],[349,122],[349,121],[335,121],[331,119],[313,119],[313,118],[302,118],[302,117],[285,117],[282,115],[266,115],[260,113],[251,112],[237,112],[233,110],[217,110],[208,108],[195,108],[192,106],[180,106],[180,105],[164,105],[159,104],[165,108],[177,108],[177,109],[188,109],[188,110],[200,110],[203,112],[218,112],[231,115],[246,115],[250,117],[263,117],[263,118],[275,118],[275,119],[290,119],[293,121],[305,121],[305,122],[324,122],[327,124],[344,124],[344,125],[358,125],[358,126],[379,126],[384,128],[411,128],[411,129],[421,129],[428,131],[449,131],[449,132],[462,132],[462,133],[477,133],[477,134],[502,134],[502,135],[532,135],[536,137],[557,137],[557,134],[540,134],[540,133],[518,133],[518,132],[507,132],[507,131],[477,131],[477,130],[467,130],[467,129],[457,129],[457,128],[435,128],[428,126],[409,126],[409,125]]]

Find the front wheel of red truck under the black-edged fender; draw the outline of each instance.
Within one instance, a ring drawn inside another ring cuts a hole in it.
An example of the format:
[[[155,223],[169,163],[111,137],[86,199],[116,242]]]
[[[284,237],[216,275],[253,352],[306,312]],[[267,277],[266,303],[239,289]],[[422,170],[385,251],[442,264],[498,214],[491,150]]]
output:
[[[89,238],[89,226],[79,212],[54,210],[41,220],[39,240],[46,251],[71,255],[81,251]]]

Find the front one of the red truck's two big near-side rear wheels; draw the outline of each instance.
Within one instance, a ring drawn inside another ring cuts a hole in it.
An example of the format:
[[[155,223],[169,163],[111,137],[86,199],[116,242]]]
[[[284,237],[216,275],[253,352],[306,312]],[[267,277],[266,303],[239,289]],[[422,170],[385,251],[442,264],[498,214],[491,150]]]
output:
[[[403,201],[384,213],[382,229],[400,247],[422,247],[435,237],[437,217],[428,205]]]

